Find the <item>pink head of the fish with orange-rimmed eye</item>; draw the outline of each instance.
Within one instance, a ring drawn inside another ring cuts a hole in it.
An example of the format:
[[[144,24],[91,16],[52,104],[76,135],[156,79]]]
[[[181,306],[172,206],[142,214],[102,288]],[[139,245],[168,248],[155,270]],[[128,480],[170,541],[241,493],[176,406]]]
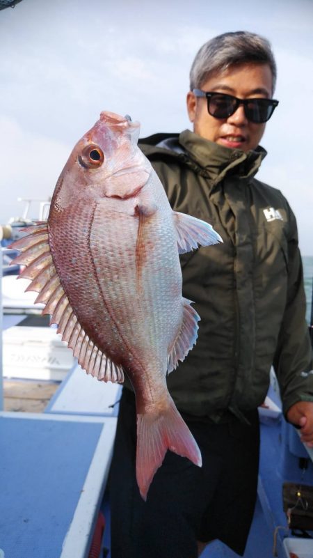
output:
[[[77,142],[61,173],[51,205],[62,210],[75,199],[135,197],[147,183],[151,166],[138,148],[138,122],[104,111]]]

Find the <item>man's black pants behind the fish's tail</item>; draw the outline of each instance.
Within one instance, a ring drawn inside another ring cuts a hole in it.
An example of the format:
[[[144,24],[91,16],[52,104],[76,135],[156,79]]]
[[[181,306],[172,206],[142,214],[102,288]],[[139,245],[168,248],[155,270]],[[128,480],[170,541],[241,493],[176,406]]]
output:
[[[188,420],[202,467],[168,451],[147,502],[136,483],[136,407],[123,389],[111,466],[111,557],[196,558],[197,541],[219,538],[243,555],[257,495],[259,419],[250,426]]]

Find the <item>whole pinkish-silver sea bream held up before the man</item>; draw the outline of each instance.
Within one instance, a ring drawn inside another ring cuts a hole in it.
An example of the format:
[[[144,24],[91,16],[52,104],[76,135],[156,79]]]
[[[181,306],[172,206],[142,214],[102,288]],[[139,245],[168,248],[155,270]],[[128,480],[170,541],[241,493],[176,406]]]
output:
[[[175,212],[138,147],[140,124],[103,111],[74,146],[47,222],[13,243],[26,290],[86,373],[129,378],[136,395],[136,479],[143,499],[170,450],[201,466],[166,376],[195,344],[200,316],[182,296],[179,254],[223,242],[207,222]],[[177,371],[176,373],[179,373]]]

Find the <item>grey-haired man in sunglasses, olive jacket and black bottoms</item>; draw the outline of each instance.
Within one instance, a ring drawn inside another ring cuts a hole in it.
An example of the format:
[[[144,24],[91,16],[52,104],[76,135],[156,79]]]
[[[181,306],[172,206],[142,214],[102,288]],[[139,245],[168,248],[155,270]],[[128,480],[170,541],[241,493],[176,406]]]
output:
[[[296,220],[280,191],[254,178],[266,155],[259,141],[278,104],[275,77],[267,40],[218,36],[191,68],[193,132],[142,142],[172,208],[212,224],[223,244],[182,256],[183,295],[195,301],[201,322],[195,348],[168,377],[203,467],[168,452],[142,501],[134,394],[125,388],[111,478],[112,558],[195,558],[214,538],[243,555],[257,492],[257,407],[271,364],[285,416],[313,445]]]

